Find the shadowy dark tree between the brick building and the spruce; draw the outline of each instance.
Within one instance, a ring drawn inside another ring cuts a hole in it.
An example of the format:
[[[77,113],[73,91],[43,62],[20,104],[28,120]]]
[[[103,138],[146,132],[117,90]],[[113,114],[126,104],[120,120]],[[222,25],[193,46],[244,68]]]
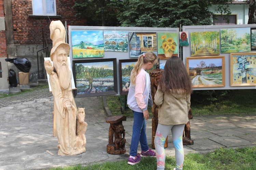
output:
[[[88,26],[119,26],[116,16],[124,10],[123,0],[76,0],[73,8]]]

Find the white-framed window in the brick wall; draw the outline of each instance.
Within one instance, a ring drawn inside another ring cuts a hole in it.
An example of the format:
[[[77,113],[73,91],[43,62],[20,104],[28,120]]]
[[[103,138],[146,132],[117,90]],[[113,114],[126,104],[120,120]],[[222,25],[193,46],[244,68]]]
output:
[[[56,16],[56,0],[32,0],[33,15]]]

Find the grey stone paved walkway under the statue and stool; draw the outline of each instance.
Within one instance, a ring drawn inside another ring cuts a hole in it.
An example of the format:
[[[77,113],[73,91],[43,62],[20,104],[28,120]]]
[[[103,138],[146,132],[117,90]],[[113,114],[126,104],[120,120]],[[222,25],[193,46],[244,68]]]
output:
[[[88,123],[86,152],[58,156],[58,140],[53,137],[53,97],[48,89],[0,99],[0,169],[46,169],[128,160],[133,118],[123,121],[127,152],[122,155],[106,153],[109,123],[105,122],[108,112],[105,112],[102,100],[103,97],[75,99],[77,107],[85,107]],[[147,120],[150,146],[151,125],[151,120]],[[185,153],[256,146],[256,116],[194,116],[190,125],[194,145],[184,146]],[[171,134],[168,138],[166,153],[174,155]]]

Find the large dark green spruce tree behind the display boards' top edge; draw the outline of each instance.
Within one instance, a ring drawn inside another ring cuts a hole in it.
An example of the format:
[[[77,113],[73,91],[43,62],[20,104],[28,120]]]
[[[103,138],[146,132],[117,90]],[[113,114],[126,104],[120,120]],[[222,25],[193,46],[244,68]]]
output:
[[[216,4],[218,12],[230,14],[232,0],[124,0],[126,10],[118,15],[124,27],[180,27],[210,25],[214,15],[209,6]]]

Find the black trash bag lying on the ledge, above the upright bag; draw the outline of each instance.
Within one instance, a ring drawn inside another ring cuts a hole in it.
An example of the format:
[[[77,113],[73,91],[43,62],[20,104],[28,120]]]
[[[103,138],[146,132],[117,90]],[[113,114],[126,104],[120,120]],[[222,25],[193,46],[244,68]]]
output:
[[[27,58],[5,58],[6,62],[13,63],[20,71],[28,73],[31,63]]]

